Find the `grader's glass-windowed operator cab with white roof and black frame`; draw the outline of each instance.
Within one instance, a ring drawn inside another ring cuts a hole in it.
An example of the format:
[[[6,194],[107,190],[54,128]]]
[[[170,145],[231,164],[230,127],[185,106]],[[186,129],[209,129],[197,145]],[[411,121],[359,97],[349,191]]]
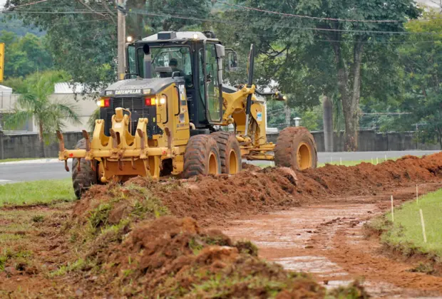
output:
[[[196,128],[222,120],[224,46],[212,32],[160,32],[128,44],[130,77],[145,78],[143,45],[150,46],[152,78],[184,78],[190,122]],[[135,75],[133,75],[135,74]]]

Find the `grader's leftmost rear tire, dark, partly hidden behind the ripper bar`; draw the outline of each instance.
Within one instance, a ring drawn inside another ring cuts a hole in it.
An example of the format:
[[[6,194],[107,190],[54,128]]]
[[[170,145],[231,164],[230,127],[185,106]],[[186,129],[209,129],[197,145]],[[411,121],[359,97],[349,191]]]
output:
[[[86,140],[82,139],[77,142],[77,150],[86,150]],[[93,161],[95,169],[97,169],[96,161]],[[72,160],[72,184],[73,191],[77,199],[81,199],[86,190],[91,188],[93,184],[97,184],[97,172],[93,171],[91,164],[86,159],[80,159],[80,170],[78,171],[78,159]]]

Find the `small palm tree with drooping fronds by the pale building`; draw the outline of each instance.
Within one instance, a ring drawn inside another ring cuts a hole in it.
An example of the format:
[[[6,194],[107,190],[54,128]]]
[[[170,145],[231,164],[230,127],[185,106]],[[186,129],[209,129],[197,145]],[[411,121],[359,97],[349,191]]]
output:
[[[43,157],[44,141],[49,142],[56,130],[62,130],[65,127],[64,122],[81,123],[76,105],[68,103],[67,100],[49,99],[55,84],[66,80],[66,77],[66,74],[60,71],[46,71],[10,83],[20,95],[14,112],[6,117],[5,127],[14,130],[34,118],[38,126],[38,139]]]

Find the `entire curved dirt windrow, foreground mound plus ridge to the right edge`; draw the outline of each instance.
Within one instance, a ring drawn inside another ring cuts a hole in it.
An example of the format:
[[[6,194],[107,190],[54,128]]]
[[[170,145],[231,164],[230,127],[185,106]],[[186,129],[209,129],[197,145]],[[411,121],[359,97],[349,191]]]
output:
[[[264,263],[251,243],[233,243],[220,231],[203,231],[194,219],[203,226],[221,224],[229,216],[326,196],[372,195],[438,180],[441,169],[442,154],[434,154],[377,166],[327,165],[306,172],[273,167],[235,176],[159,183],[138,177],[123,186],[96,186],[77,202],[66,226],[73,250],[81,254],[65,267],[69,283],[56,291],[78,288],[86,296],[149,298],[323,298],[324,289],[304,274]],[[354,288],[341,291],[366,296],[357,285]]]

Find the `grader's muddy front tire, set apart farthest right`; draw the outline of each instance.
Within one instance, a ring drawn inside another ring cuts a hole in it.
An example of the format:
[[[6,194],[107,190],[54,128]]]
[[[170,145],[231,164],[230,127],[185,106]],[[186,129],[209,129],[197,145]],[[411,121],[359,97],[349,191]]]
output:
[[[279,167],[291,167],[294,170],[316,168],[316,143],[309,130],[305,127],[286,127],[279,132],[274,162]]]

